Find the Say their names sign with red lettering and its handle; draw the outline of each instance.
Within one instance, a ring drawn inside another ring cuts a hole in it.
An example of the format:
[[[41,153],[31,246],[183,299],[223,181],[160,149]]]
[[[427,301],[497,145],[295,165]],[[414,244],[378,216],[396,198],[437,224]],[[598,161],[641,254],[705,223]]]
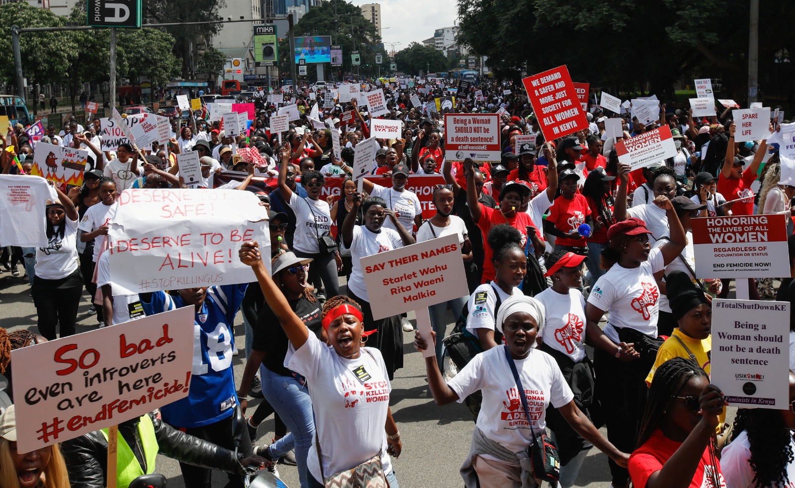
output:
[[[414,310],[420,335],[429,344],[433,340],[428,308],[469,293],[457,235],[366,256],[361,263],[367,297],[378,304],[372,307],[374,320]],[[435,354],[429,347],[422,355]]]

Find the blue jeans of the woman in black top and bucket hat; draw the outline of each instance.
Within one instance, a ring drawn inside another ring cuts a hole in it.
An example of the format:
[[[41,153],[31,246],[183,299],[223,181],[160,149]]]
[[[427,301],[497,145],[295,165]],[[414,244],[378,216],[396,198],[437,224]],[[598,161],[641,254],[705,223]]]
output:
[[[288,435],[270,444],[270,455],[273,459],[279,459],[281,455],[295,448],[298,479],[301,481],[301,488],[308,488],[308,478],[312,476],[308,474],[306,458],[309,446],[315,438],[315,419],[312,416],[312,401],[309,399],[308,389],[292,376],[281,376],[265,366],[259,367],[259,373],[262,378],[262,393],[290,429]]]

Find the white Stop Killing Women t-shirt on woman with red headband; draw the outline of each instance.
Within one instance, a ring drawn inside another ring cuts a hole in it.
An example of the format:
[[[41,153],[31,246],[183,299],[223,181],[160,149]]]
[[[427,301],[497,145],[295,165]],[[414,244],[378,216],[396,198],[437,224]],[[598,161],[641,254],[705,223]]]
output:
[[[324,475],[359,466],[379,451],[384,473],[392,471],[385,429],[392,385],[381,351],[363,347],[359,358],[347,359],[310,334],[298,351],[290,345],[285,367],[303,375],[312,385],[309,397],[315,405]],[[307,464],[315,479],[323,479],[314,440]]]

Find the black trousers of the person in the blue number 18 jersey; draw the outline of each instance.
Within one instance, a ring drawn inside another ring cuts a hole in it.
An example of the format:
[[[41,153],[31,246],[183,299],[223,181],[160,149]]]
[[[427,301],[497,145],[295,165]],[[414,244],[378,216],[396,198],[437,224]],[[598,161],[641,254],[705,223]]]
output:
[[[250,455],[252,451],[251,440],[246,433],[246,426],[242,425],[241,428],[243,429],[243,436],[238,452],[242,452],[244,456]],[[235,450],[234,441],[232,440],[232,416],[228,416],[214,424],[180,430],[184,430],[184,432],[187,432],[191,436],[196,436],[208,442],[218,444],[221,447],[226,447],[230,451]],[[211,488],[211,469],[180,463],[180,470],[182,470],[182,478],[184,479],[185,486],[190,486],[191,488]],[[226,485],[228,488],[243,486],[242,478],[239,474],[227,473],[227,476],[229,477],[229,482]]]

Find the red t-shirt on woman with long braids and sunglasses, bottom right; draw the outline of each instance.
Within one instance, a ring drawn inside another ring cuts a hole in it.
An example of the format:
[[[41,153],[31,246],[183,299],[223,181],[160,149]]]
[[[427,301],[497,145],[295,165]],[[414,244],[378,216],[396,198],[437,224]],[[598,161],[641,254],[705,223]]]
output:
[[[682,445],[681,442],[670,440],[660,429],[653,432],[649,440],[641,447],[635,449],[630,455],[630,477],[635,488],[646,488],[646,482],[655,471],[660,471],[662,465],[668,462],[674,452]],[[717,471],[719,486],[712,483],[712,473]],[[725,488],[726,481],[720,471],[720,463],[713,466],[709,460],[709,448],[704,449],[704,454],[696,467],[689,488]]]

